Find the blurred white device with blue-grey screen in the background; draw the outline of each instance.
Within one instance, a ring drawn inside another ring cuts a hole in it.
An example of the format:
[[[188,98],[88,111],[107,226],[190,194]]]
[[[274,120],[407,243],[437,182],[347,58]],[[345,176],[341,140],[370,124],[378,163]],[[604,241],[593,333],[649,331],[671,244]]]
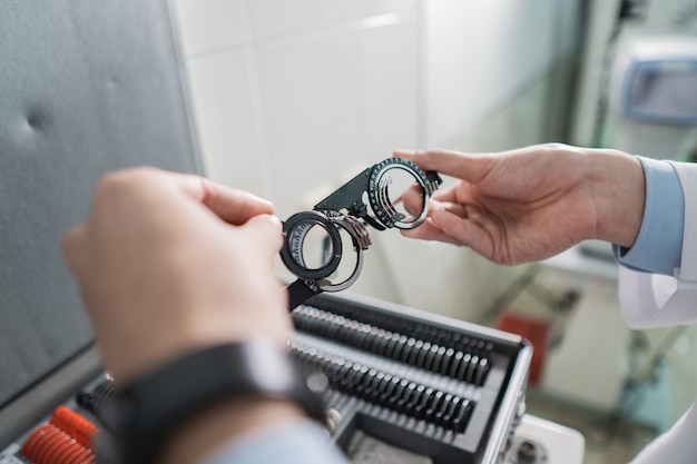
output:
[[[628,37],[613,61],[602,144],[689,159],[697,144],[697,36]]]

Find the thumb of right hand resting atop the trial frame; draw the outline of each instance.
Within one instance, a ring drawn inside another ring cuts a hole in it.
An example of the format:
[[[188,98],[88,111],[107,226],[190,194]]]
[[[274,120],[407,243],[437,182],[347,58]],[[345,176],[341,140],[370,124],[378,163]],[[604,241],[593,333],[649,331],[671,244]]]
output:
[[[423,170],[434,170],[469,182],[484,178],[492,167],[493,157],[485,154],[431,149],[424,151],[395,150],[393,156],[406,158]]]

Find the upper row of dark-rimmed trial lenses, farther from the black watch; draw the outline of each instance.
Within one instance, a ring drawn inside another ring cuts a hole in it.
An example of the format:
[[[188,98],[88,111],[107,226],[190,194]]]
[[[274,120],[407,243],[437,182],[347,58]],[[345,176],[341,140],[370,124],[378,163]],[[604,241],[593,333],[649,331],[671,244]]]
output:
[[[311,306],[295,309],[293,320],[300,330],[477,386],[484,384],[491,368],[483,354],[424,342]]]

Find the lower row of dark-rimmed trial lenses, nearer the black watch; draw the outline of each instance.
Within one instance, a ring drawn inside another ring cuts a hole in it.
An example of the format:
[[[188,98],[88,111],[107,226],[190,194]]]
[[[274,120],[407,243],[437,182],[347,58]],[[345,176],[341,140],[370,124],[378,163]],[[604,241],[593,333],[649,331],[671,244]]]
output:
[[[293,353],[311,369],[326,375],[332,388],[415,419],[463,433],[474,402],[408,378],[352,363],[300,342]]]

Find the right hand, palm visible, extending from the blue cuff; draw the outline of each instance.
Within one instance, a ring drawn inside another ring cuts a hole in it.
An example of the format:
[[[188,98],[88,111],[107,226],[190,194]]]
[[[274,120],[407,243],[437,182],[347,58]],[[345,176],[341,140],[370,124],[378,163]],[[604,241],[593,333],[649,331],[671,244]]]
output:
[[[551,257],[598,238],[630,247],[645,201],[640,162],[615,150],[549,144],[500,154],[394,152],[458,178],[406,237],[468,246],[494,263]]]

